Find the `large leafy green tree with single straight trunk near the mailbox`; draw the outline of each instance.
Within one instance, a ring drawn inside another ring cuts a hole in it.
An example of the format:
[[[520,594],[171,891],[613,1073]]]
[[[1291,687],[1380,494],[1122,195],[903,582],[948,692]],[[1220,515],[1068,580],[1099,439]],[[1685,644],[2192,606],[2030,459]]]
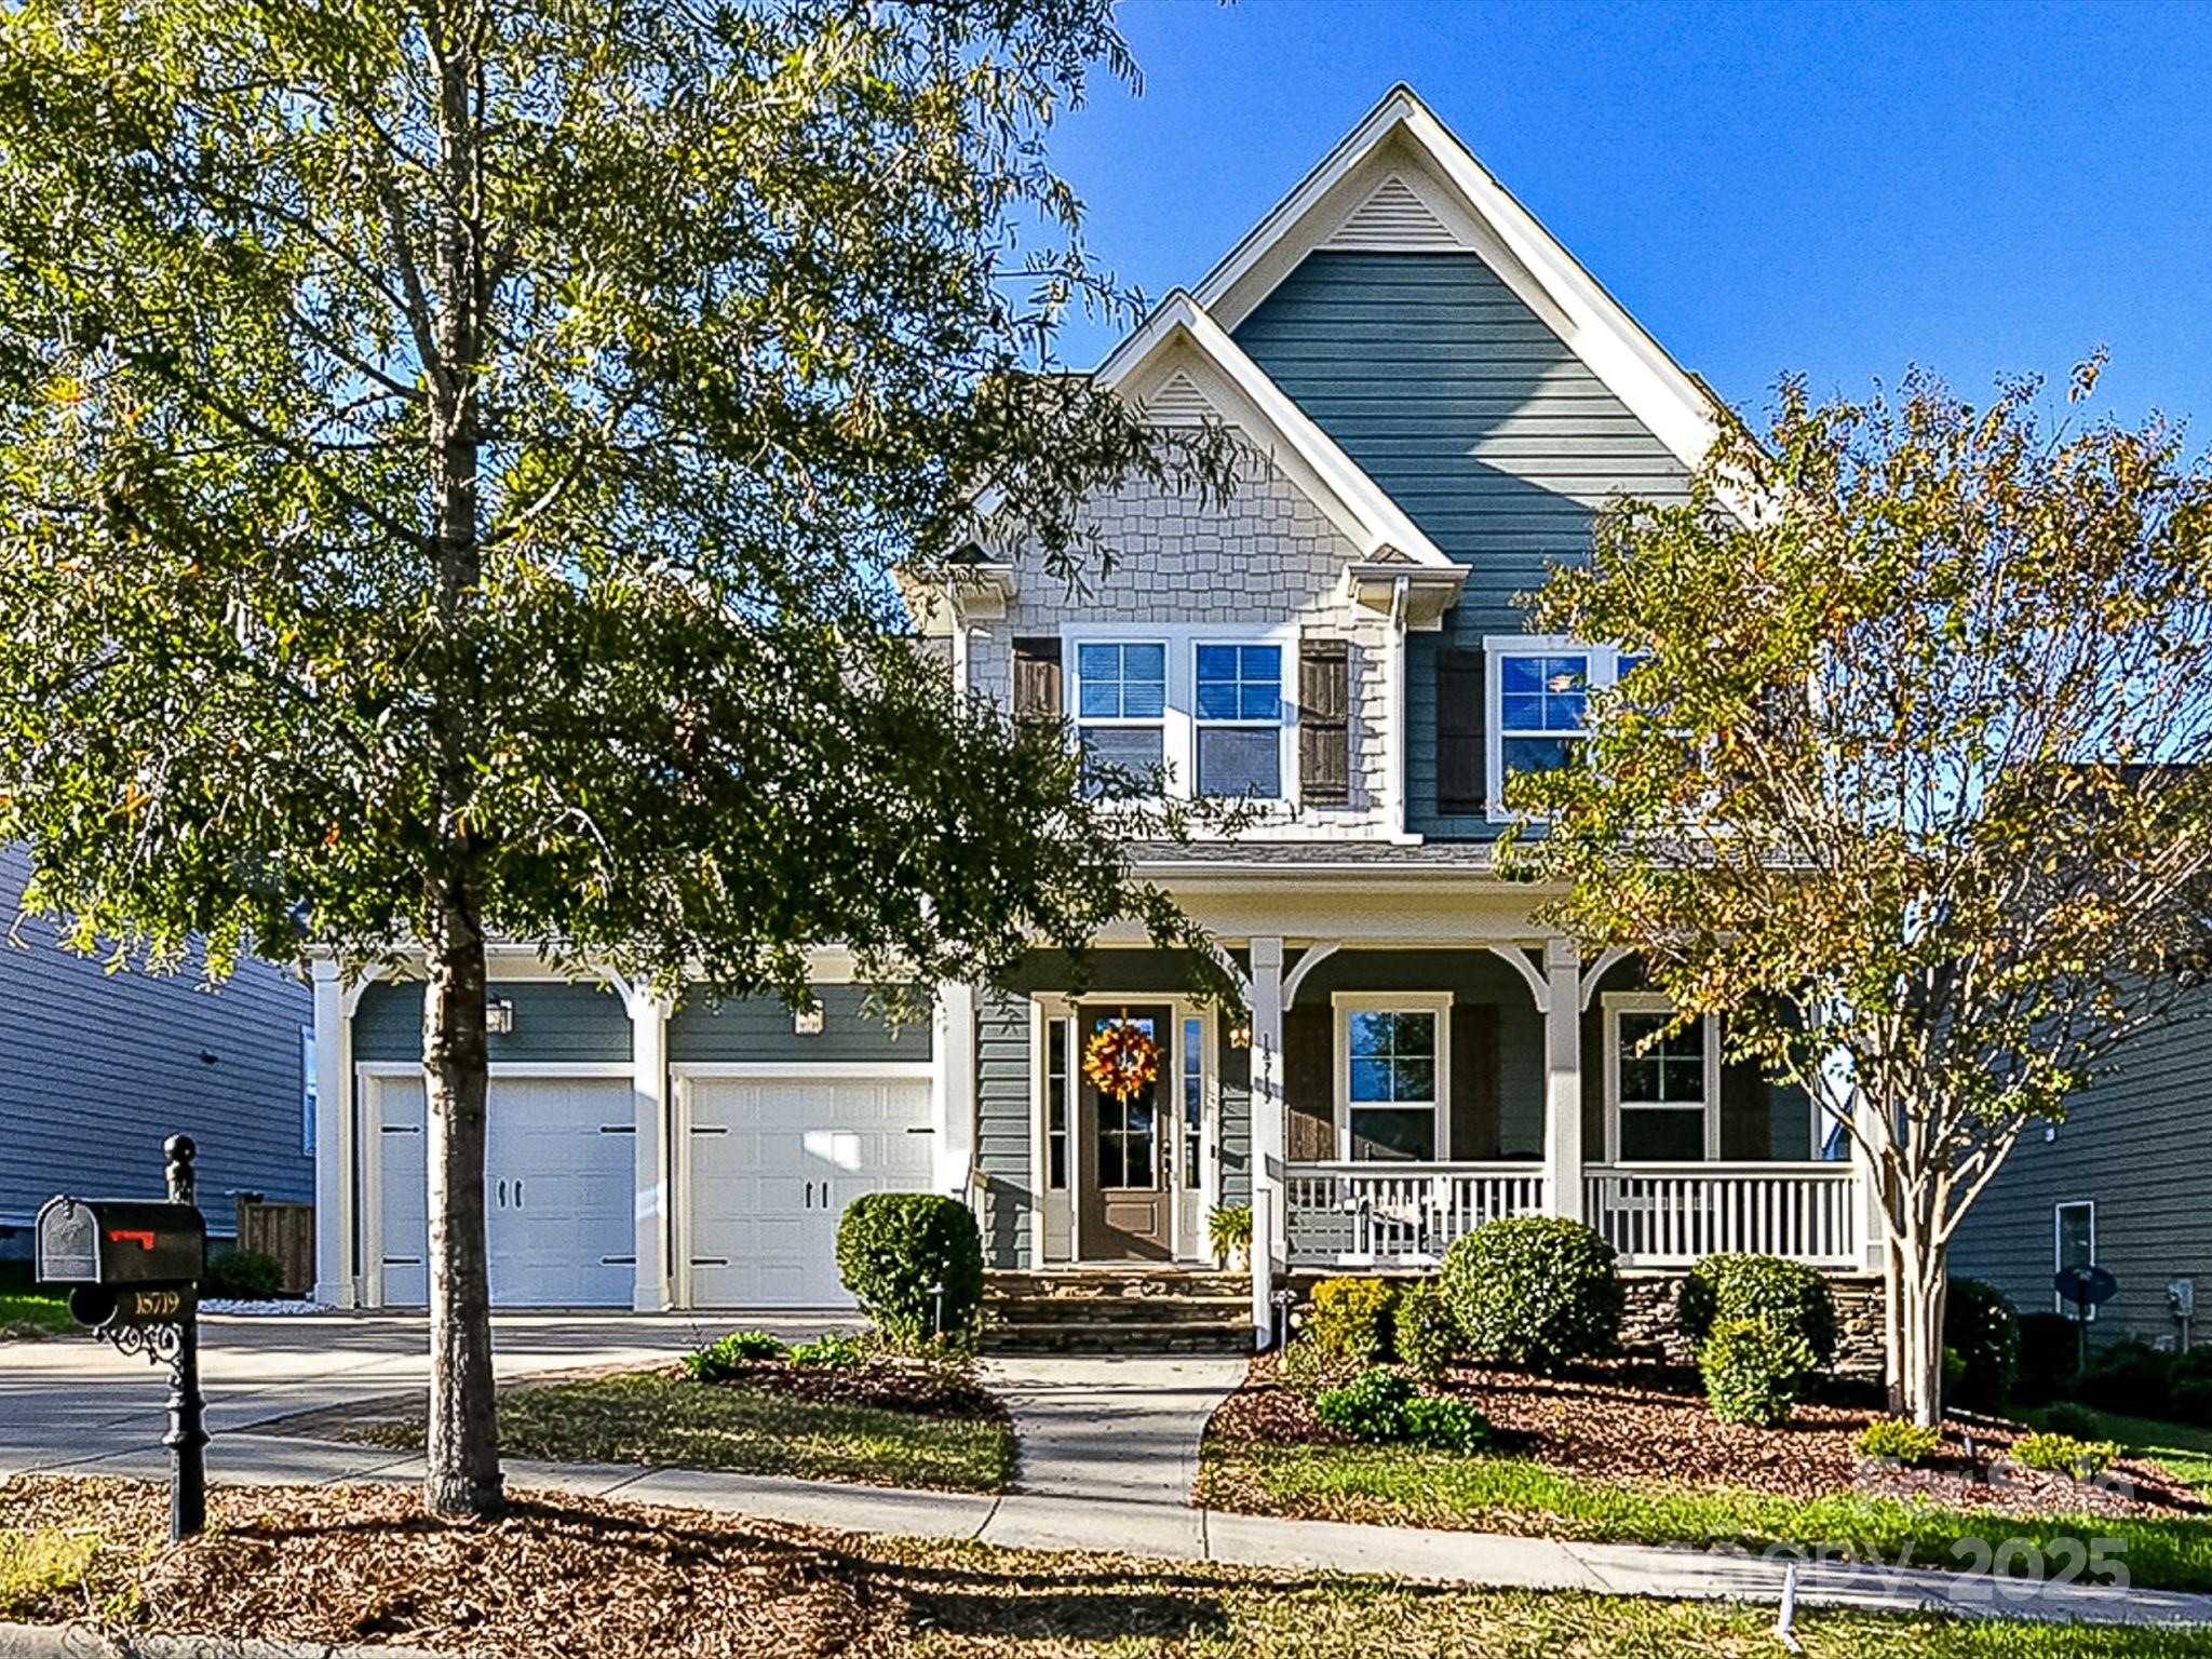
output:
[[[1212,491],[1051,372],[1108,0],[27,0],[0,834],[71,938],[427,971],[427,1502],[500,1504],[484,940],[714,993],[1175,938],[891,571]]]

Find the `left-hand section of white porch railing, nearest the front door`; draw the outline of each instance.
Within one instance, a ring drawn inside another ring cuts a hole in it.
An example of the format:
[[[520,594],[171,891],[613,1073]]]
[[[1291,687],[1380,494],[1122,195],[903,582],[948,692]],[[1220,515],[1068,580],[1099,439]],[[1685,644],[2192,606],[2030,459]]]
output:
[[[1540,1164],[1292,1164],[1292,1267],[1427,1267],[1462,1232],[1544,1212]]]

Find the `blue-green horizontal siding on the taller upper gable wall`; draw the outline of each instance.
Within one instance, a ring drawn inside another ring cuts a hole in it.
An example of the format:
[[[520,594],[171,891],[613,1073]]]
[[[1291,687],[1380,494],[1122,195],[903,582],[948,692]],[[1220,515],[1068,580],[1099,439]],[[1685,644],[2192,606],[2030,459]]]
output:
[[[1411,639],[1407,816],[1429,836],[1495,834],[1436,814],[1436,650],[1520,633],[1517,595],[1588,553],[1597,509],[1679,500],[1681,462],[1475,254],[1307,254],[1237,343],[1471,566],[1444,633]]]

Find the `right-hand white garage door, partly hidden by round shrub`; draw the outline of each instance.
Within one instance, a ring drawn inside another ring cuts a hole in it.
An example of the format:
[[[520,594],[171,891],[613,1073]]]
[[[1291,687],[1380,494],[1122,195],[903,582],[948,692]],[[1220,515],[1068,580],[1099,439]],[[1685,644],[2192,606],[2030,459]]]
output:
[[[929,1082],[697,1077],[692,1307],[849,1307],[836,1223],[863,1192],[929,1190]]]

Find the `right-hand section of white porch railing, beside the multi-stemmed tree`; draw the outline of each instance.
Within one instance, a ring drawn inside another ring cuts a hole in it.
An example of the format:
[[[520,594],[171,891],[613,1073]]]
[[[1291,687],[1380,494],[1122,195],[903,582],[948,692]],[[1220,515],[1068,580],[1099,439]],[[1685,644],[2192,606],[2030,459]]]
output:
[[[1582,1194],[1590,1225],[1628,1267],[1686,1267],[1714,1250],[1860,1263],[1849,1164],[1590,1166]]]

